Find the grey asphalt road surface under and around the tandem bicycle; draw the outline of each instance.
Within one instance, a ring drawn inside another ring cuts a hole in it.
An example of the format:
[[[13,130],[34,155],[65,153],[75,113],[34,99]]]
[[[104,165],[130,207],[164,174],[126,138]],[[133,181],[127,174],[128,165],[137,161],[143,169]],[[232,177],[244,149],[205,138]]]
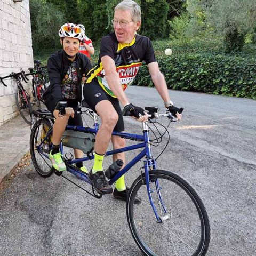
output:
[[[132,86],[127,95],[134,105],[163,109],[155,89]],[[180,174],[203,199],[211,222],[207,255],[255,255],[256,101],[179,91],[170,95],[185,110],[182,121],[169,127],[171,142],[158,167]],[[125,124],[126,131],[140,131],[131,118]],[[156,156],[163,147],[154,148]],[[127,185],[140,166],[126,175]],[[127,226],[125,203],[111,195],[94,199],[56,175],[41,178],[31,164],[21,167],[0,202],[0,255],[141,255]]]

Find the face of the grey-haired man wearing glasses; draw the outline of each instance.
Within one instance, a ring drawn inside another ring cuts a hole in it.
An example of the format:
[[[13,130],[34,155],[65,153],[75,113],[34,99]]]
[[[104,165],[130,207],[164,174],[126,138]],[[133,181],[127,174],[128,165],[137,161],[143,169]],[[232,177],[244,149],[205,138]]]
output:
[[[140,27],[140,21],[133,21],[130,10],[116,10],[113,26],[118,42],[131,43]]]

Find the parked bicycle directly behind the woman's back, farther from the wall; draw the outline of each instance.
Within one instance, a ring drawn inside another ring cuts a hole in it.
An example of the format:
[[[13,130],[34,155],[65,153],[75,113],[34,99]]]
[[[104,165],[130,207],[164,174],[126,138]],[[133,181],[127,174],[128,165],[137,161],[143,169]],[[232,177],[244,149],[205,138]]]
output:
[[[45,67],[41,66],[41,62],[39,60],[34,60],[34,68],[28,69],[30,74],[33,76],[32,94],[39,108],[41,108],[41,102],[44,103],[43,93],[46,90],[46,79],[43,68]]]

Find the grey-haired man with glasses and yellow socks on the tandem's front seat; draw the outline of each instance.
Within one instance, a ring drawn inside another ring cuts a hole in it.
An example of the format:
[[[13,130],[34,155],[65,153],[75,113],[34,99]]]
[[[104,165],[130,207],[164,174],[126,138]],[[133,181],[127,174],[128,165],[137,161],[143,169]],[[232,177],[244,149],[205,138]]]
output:
[[[114,33],[101,40],[98,65],[90,70],[84,85],[84,99],[101,118],[100,129],[96,135],[95,158],[89,178],[95,189],[102,194],[112,193],[112,188],[103,173],[102,161],[109,142],[114,149],[125,146],[125,140],[111,137],[113,130],[124,131],[123,115],[132,115],[137,121],[147,121],[147,114],[142,108],[132,105],[124,90],[132,83],[142,61],[148,65],[150,76],[164,105],[173,115],[181,119],[181,111],[170,100],[163,74],[158,68],[150,39],[136,33],[141,25],[140,6],[132,0],[123,0],[115,7],[112,20]],[[122,159],[124,153],[113,156],[113,160]],[[124,177],[116,181],[114,197],[126,200],[129,188],[125,186]]]

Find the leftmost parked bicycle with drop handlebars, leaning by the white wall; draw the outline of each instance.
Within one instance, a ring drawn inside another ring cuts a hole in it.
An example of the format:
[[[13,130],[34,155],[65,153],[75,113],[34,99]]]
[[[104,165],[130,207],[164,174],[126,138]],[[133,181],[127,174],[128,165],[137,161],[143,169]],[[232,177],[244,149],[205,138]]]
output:
[[[30,113],[33,109],[31,104],[31,99],[30,99],[30,95],[24,89],[21,83],[21,81],[28,83],[27,75],[30,75],[30,74],[25,74],[25,72],[21,69],[19,73],[12,72],[8,76],[0,77],[0,81],[4,86],[7,86],[3,81],[4,79],[6,78],[15,79],[18,87],[18,90],[15,92],[15,102],[16,102],[17,108],[19,110],[21,117],[24,119],[24,121],[28,124],[31,124]]]

